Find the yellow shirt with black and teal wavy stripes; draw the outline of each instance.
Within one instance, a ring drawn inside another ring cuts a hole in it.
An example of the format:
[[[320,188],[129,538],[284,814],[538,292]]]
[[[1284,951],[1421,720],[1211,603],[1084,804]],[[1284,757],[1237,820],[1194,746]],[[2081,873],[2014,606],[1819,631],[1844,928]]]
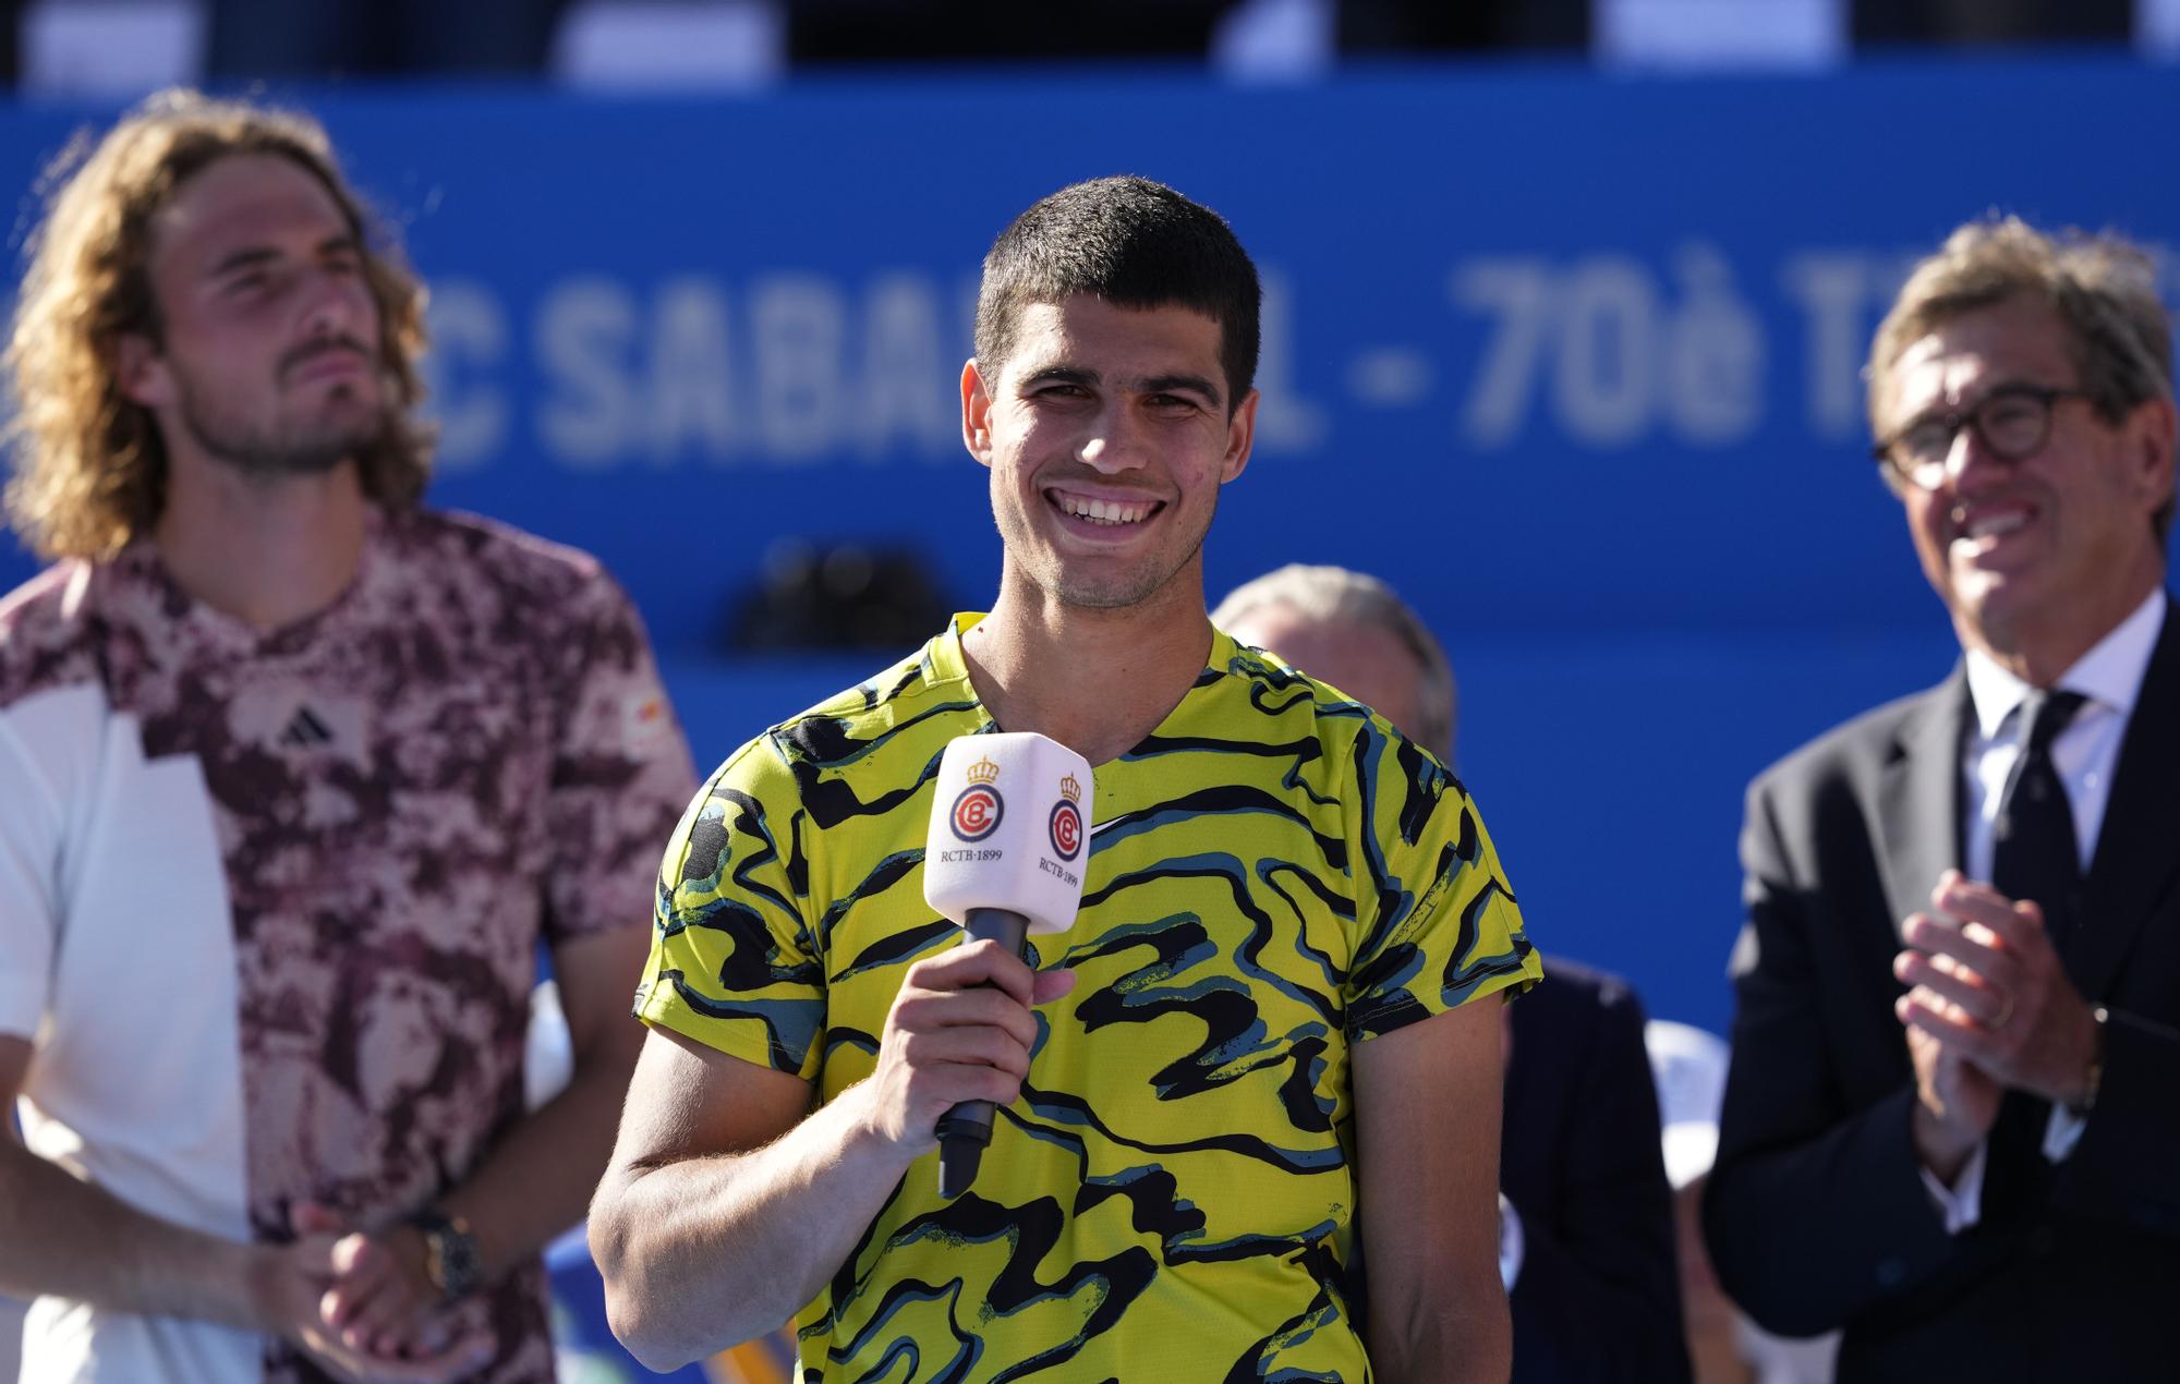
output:
[[[874,1070],[924,905],[931,780],[992,730],[955,628],[743,745],[667,848],[637,1013],[824,1098]],[[804,1380],[1369,1377],[1349,1055],[1541,966],[1461,785],[1382,719],[1212,636],[1099,765],[1075,990],[948,1203],[920,1160],[796,1321]]]

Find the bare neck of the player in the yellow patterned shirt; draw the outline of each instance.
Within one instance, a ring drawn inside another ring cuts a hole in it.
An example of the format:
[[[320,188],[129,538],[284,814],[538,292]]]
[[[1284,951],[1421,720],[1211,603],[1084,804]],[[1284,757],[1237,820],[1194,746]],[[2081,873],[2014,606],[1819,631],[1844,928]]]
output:
[[[1092,767],[1134,750],[1179,706],[1210,656],[1199,562],[1123,608],[1066,606],[1012,564],[961,641],[1001,730],[1036,730]]]

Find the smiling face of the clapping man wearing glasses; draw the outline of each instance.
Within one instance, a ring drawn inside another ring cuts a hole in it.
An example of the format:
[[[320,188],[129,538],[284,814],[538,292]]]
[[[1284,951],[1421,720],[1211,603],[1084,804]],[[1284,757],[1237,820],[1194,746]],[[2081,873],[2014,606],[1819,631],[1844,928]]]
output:
[[[2038,299],[1964,312],[1901,351],[1886,371],[1886,436],[2006,386],[2080,386],[2067,327]],[[2171,466],[2167,399],[2119,423],[2058,399],[2049,440],[2017,462],[1960,429],[1945,482],[1908,488],[1903,503],[1962,643],[2001,663],[2025,656],[2038,678],[2062,673],[2163,580],[2149,517],[2171,493]]]

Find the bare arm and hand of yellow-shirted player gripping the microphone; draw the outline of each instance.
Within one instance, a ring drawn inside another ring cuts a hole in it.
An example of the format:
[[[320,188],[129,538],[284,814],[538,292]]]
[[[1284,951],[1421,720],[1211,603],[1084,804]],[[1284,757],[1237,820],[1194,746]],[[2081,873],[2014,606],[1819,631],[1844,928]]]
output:
[[[937,1144],[946,1109],[1020,1094],[1029,1007],[1073,983],[994,942],[918,961],[876,1070],[818,1112],[800,1077],[652,1029],[591,1205],[615,1336],[665,1371],[802,1310]]]

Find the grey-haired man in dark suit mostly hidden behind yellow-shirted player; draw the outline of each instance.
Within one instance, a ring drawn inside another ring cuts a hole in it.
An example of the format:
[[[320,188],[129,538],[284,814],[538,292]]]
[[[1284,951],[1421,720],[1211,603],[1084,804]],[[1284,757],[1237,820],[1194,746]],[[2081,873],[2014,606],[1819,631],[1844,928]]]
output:
[[[1452,667],[1378,578],[1282,567],[1234,591],[1212,623],[1332,682],[1452,763]],[[1500,1275],[1513,1380],[1687,1380],[1642,1000],[1620,976],[1559,957],[1546,976],[1506,1007]]]

